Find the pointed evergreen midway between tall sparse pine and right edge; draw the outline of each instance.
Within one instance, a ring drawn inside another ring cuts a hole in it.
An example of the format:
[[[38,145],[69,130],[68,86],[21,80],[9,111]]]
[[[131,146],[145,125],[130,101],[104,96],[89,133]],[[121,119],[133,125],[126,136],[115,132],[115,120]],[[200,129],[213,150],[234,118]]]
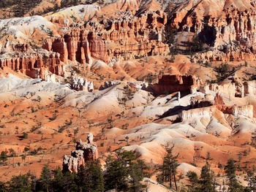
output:
[[[200,175],[200,191],[202,192],[215,192],[214,177],[211,172],[210,165],[206,164],[201,169]]]

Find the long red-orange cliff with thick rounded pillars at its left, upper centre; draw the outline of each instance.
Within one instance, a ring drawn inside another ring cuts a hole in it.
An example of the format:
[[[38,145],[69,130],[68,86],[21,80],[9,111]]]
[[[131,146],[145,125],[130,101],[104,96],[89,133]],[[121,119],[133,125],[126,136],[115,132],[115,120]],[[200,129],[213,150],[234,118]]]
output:
[[[120,16],[119,16],[120,17]],[[61,61],[91,64],[91,58],[105,63],[113,59],[138,58],[145,55],[166,55],[168,46],[162,42],[167,15],[161,11],[144,12],[122,18],[89,21],[57,39],[43,45],[60,54]]]

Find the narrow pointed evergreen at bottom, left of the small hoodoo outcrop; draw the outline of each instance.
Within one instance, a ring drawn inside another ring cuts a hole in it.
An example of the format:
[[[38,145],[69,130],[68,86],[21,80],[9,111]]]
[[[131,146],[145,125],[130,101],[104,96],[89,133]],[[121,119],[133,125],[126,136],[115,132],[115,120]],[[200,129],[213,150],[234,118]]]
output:
[[[49,191],[50,190],[50,184],[51,184],[51,171],[48,167],[48,165],[44,165],[42,168],[42,172],[39,178],[39,185],[40,189],[42,191]]]

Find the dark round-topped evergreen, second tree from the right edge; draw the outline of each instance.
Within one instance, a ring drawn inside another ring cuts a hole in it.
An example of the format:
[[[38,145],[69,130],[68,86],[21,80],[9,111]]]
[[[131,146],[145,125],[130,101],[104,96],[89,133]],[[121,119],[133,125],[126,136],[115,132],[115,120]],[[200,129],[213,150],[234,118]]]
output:
[[[238,180],[236,180],[236,164],[233,158],[230,158],[227,161],[227,165],[225,166],[225,173],[227,174],[228,177],[228,191],[242,191],[242,186],[239,185]]]

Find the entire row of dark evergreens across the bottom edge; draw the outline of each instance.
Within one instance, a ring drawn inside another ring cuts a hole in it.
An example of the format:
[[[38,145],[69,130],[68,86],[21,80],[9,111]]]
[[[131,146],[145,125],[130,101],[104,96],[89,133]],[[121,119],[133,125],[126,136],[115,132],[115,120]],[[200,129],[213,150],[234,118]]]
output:
[[[172,147],[173,148],[173,147]],[[211,157],[208,153],[206,164],[202,167],[200,177],[195,172],[187,172],[187,185],[177,185],[177,182],[184,179],[182,174],[177,176],[178,154],[173,155],[172,148],[167,150],[167,155],[161,165],[157,166],[157,181],[182,192],[255,192],[256,174],[255,169],[248,170],[244,177],[247,186],[242,186],[237,179],[236,161],[232,158],[224,166],[225,180],[219,185],[216,175],[211,171],[209,161]],[[143,177],[151,177],[152,170],[146,166],[145,162],[138,160],[138,154],[127,151],[117,150],[116,156],[108,156],[105,161],[103,172],[99,159],[86,162],[81,165],[77,173],[63,172],[60,167],[51,170],[48,165],[43,166],[40,177],[37,178],[30,172],[13,176],[7,183],[0,183],[0,192],[17,191],[85,191],[103,192],[115,189],[116,191],[145,191],[146,185],[141,181]]]

